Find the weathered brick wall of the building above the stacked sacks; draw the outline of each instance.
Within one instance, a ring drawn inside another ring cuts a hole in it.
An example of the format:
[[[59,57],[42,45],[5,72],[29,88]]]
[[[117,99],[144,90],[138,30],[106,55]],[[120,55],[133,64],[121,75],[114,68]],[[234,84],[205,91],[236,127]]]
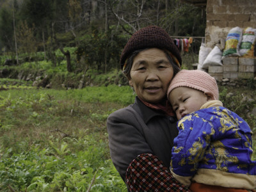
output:
[[[207,0],[205,43],[214,47],[236,26],[256,28],[256,0]]]

